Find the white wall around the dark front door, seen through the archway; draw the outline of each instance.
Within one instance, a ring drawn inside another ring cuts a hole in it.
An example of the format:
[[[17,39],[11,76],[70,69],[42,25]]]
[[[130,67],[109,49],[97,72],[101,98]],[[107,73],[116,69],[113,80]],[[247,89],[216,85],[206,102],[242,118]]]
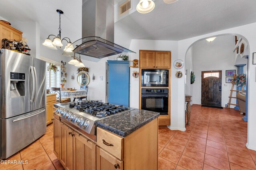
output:
[[[228,103],[232,84],[226,83],[226,70],[236,70],[234,66],[234,36],[220,36],[211,43],[202,40],[193,44],[193,66],[196,81],[193,84],[193,104],[201,104],[201,72],[222,70],[222,107]],[[188,57],[186,58],[188,59]],[[235,96],[235,93],[233,93]],[[232,99],[231,103],[236,103]],[[230,106],[234,108],[234,106]]]

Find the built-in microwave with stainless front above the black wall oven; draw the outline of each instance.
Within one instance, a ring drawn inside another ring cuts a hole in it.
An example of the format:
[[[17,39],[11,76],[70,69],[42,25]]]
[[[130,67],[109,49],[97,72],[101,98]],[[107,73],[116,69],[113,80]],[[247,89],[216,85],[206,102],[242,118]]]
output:
[[[142,87],[168,87],[169,70],[162,69],[142,69]]]

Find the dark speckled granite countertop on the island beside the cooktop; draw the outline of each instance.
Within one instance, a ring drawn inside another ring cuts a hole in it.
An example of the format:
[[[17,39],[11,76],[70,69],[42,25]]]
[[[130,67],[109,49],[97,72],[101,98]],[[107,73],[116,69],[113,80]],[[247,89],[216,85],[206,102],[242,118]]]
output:
[[[110,131],[121,137],[126,137],[148,122],[156,119],[160,114],[153,111],[134,109],[98,121],[98,127]]]

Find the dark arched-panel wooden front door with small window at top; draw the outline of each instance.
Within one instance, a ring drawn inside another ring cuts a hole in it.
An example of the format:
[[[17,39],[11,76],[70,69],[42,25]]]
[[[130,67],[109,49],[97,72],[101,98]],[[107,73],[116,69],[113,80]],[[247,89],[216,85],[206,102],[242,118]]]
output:
[[[201,103],[221,106],[222,71],[202,71]]]

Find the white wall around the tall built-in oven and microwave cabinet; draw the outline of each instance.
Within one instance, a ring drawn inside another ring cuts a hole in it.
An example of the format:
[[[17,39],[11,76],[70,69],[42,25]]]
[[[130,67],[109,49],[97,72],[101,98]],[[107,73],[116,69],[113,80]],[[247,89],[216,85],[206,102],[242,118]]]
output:
[[[178,41],[162,41],[162,40],[140,40],[132,39],[130,50],[136,52],[129,54],[129,60],[139,59],[139,50],[158,50],[172,51],[172,57],[178,56]],[[173,61],[173,60],[172,60]],[[133,70],[139,71],[139,68],[130,67],[130,107],[139,107],[139,78],[132,77]],[[176,72],[172,72],[175,77]],[[172,86],[172,84],[171,84]]]

